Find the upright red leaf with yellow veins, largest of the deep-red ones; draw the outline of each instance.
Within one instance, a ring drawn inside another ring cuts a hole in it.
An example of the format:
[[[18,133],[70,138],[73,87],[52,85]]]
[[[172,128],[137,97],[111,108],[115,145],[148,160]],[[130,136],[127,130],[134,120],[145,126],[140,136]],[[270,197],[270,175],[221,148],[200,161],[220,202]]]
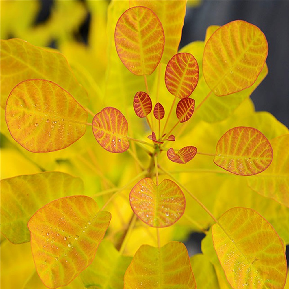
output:
[[[191,95],[197,86],[198,79],[199,66],[190,53],[177,53],[166,66],[166,87],[171,94],[179,98]]]

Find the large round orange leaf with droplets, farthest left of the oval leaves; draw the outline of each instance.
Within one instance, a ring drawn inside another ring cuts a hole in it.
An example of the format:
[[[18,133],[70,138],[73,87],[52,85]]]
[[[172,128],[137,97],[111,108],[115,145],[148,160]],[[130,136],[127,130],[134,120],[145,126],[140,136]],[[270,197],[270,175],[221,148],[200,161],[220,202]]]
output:
[[[14,140],[39,153],[64,149],[81,138],[88,113],[58,84],[28,79],[10,92],[5,118]]]

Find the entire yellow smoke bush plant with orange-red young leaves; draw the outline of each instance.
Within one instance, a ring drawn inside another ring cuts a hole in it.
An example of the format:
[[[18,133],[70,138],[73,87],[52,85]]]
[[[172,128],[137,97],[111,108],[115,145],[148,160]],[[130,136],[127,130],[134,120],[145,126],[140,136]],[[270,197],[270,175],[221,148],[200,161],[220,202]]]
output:
[[[63,45],[71,66],[1,40],[2,288],[284,288],[288,129],[249,99],[266,38],[237,20],[177,52],[185,11],[112,1],[107,53]]]

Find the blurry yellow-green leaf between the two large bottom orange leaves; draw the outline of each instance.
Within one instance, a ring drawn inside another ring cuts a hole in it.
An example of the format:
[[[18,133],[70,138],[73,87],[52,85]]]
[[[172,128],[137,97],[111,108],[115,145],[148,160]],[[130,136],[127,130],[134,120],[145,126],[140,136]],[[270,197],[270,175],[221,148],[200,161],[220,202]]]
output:
[[[108,240],[102,240],[95,258],[80,273],[85,288],[123,288],[123,277],[132,257],[123,256]]]

